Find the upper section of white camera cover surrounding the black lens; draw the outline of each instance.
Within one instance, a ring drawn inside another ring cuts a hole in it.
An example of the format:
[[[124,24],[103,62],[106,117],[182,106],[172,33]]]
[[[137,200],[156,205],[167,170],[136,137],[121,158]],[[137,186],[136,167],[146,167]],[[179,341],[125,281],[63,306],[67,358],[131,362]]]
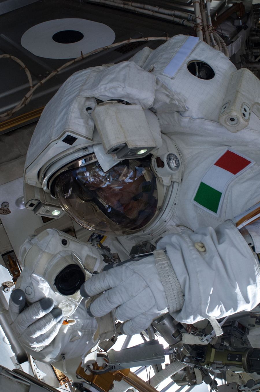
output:
[[[62,243],[64,240],[65,245]],[[85,272],[85,279],[89,279],[92,276],[90,272],[100,272],[105,265],[94,246],[83,244],[56,229],[44,230],[38,236],[27,239],[18,257],[23,270],[17,279],[16,289],[25,292],[29,303],[44,297],[54,299],[64,316],[74,313],[82,297],[79,290],[71,296],[60,294],[54,285],[55,277],[68,265],[76,264]]]

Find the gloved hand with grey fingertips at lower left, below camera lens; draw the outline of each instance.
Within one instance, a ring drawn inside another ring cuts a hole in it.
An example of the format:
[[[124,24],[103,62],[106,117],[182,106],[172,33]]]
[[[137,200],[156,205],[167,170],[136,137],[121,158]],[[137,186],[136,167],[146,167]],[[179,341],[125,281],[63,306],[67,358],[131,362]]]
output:
[[[54,308],[51,298],[43,298],[25,307],[23,290],[13,290],[8,309],[11,328],[20,343],[35,351],[49,345],[58,334],[63,323],[61,309]]]

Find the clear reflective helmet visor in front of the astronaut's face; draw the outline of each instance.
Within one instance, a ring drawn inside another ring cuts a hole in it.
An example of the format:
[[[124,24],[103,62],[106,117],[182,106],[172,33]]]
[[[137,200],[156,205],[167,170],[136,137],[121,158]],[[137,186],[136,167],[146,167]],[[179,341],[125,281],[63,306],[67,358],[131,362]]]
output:
[[[62,172],[55,196],[79,224],[101,234],[129,234],[157,208],[156,178],[146,160],[125,160],[104,172],[99,163]]]

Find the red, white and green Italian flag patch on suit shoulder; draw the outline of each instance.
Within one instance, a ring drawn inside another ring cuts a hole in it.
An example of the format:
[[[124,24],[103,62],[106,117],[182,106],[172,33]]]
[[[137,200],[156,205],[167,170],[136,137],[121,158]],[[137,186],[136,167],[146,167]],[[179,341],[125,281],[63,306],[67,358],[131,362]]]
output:
[[[255,162],[227,150],[206,172],[193,201],[217,214],[227,184],[253,163]]]

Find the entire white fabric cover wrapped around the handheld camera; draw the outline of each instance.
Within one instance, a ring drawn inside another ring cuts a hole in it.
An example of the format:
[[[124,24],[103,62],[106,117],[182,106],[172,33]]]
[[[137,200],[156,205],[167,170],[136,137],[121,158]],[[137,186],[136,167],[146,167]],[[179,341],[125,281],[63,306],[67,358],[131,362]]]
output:
[[[61,243],[62,239],[67,240],[65,246]],[[78,260],[71,257],[73,263],[83,268],[85,266],[91,272],[100,272],[105,265],[96,248],[56,229],[47,229],[33,239],[26,240],[19,254],[23,270],[15,288],[25,292],[27,303],[34,303],[45,297],[52,298],[69,320],[69,324],[61,326],[57,336],[47,347],[38,352],[25,348],[33,358],[45,363],[61,360],[61,354],[65,360],[85,355],[96,347],[100,340],[113,336],[115,331],[112,314],[91,318],[86,312],[85,300],[81,301],[81,296],[79,298],[79,292],[75,293],[78,293],[78,296],[75,297],[74,294],[73,298],[68,298],[59,294],[55,286],[51,287],[52,285],[47,283],[45,278],[48,278],[49,272],[55,273],[53,267],[56,272],[65,267],[64,249],[67,255],[74,253],[77,256]],[[59,257],[59,254],[63,257]],[[91,276],[87,271],[85,274],[86,278]],[[78,365],[79,363],[75,364],[74,371]]]

